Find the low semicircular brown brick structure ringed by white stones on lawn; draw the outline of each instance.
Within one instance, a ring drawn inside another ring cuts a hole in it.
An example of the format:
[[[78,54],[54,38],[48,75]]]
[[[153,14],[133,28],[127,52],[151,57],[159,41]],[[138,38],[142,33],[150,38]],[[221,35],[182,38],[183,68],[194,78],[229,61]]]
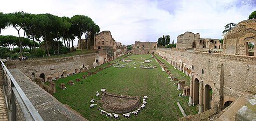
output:
[[[101,97],[102,107],[111,113],[126,113],[133,111],[140,104],[140,98],[137,96],[114,95],[107,92]]]

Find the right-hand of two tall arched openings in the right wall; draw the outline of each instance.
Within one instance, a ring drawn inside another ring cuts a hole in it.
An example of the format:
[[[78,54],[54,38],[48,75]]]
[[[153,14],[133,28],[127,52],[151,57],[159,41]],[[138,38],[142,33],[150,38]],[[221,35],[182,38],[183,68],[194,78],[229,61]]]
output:
[[[208,84],[204,87],[204,111],[212,108],[212,88]]]

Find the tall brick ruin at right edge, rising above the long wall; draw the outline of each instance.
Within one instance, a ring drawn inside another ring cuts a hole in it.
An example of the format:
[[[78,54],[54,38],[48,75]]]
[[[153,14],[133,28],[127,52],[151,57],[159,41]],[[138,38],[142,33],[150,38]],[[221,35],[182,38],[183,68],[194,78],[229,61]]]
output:
[[[256,56],[256,48],[249,44],[256,44],[256,20],[244,20],[238,23],[224,37],[224,53],[232,55]]]

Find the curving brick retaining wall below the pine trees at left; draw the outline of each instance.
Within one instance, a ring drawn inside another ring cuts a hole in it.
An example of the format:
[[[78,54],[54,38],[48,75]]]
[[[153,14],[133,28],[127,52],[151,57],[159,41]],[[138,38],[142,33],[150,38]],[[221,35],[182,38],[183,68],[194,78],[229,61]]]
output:
[[[45,81],[48,81],[48,77],[52,77],[54,80],[90,69],[98,59],[99,54],[92,53],[65,58],[6,62],[6,67],[18,68],[31,78],[41,75]]]

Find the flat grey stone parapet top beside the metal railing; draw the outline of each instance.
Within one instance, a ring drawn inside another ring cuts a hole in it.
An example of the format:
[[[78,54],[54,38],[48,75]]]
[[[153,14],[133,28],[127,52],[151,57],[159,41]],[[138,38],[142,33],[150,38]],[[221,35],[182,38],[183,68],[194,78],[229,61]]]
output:
[[[87,120],[30,81],[19,69],[9,71],[44,120]]]

